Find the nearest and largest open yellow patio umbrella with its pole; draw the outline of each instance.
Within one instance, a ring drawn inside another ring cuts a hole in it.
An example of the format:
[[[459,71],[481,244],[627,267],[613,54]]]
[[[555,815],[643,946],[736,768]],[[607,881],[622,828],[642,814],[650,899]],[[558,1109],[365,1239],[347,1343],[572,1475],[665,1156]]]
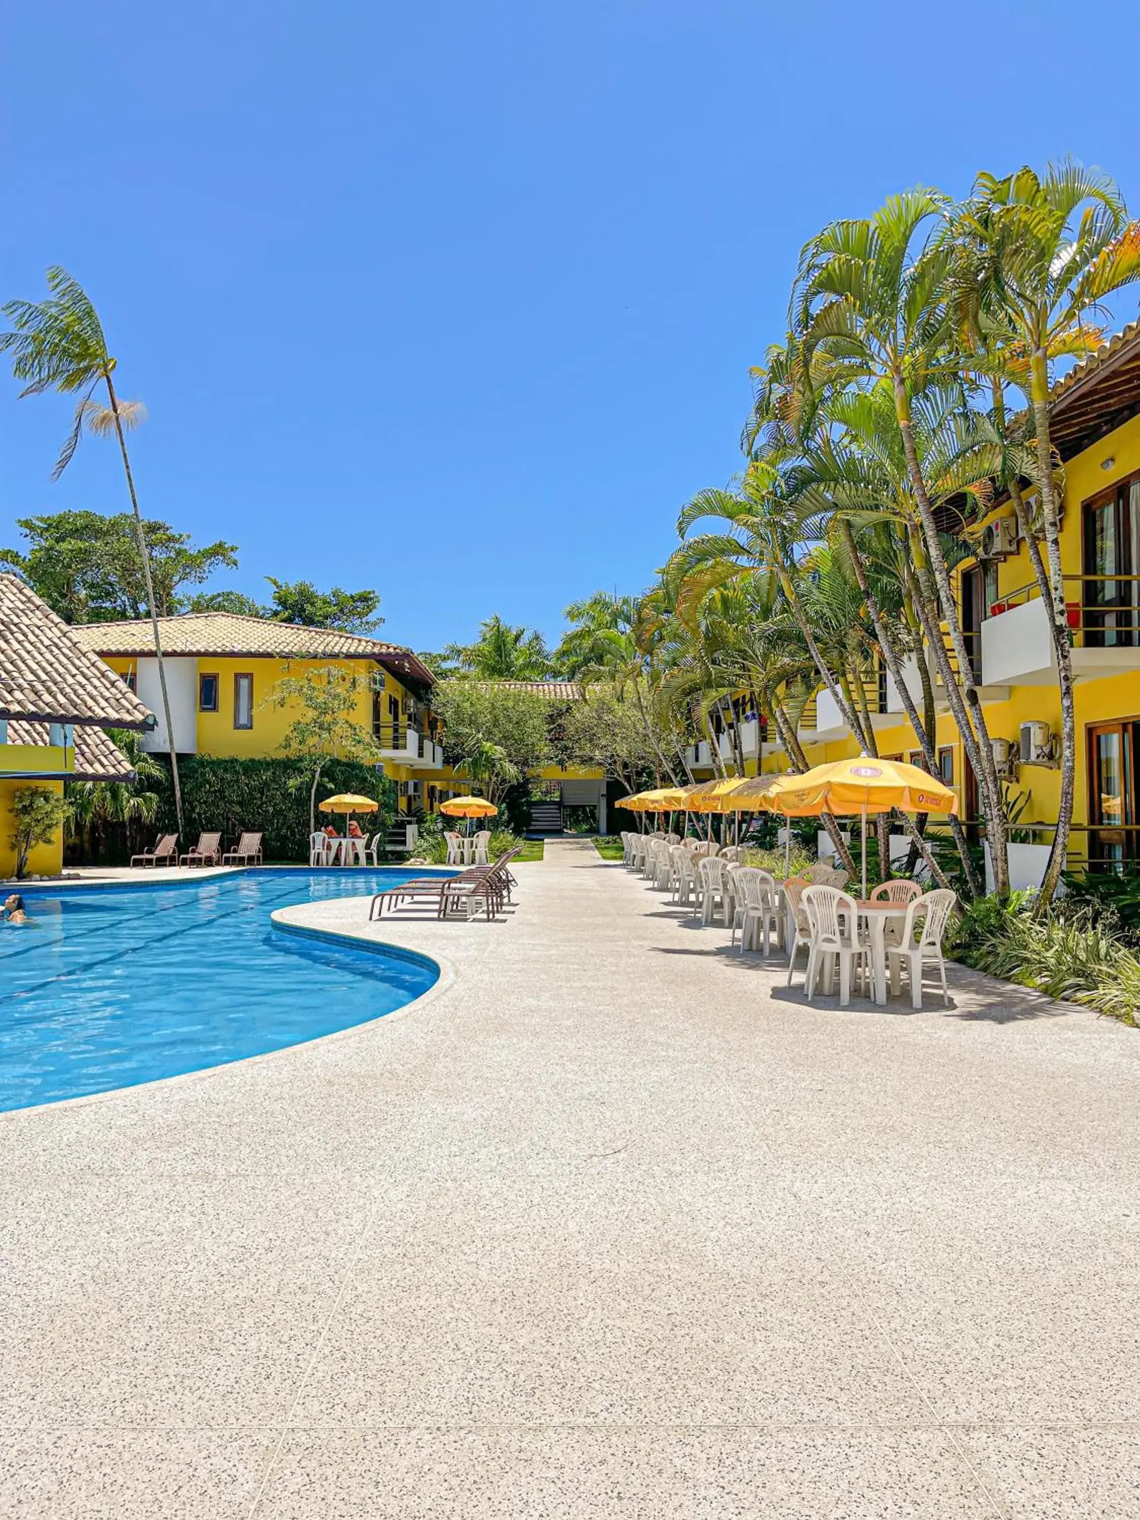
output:
[[[866,815],[889,813],[894,807],[903,813],[956,813],[958,796],[917,765],[857,755],[854,760],[831,760],[828,765],[813,766],[801,775],[778,777],[768,790],[768,806],[790,818],[857,815],[862,819],[866,897]]]

